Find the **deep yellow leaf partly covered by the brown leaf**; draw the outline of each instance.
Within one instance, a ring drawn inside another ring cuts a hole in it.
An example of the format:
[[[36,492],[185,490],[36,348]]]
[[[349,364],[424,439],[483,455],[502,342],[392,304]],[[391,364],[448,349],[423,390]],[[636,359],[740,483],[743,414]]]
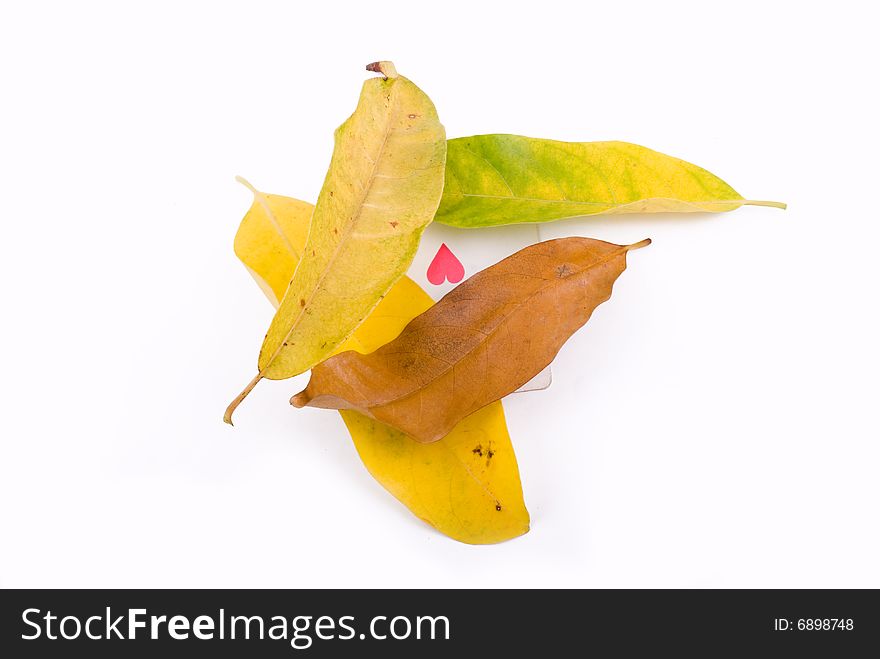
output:
[[[254,204],[235,237],[235,253],[277,305],[305,244],[313,206],[251,190]],[[403,277],[338,351],[372,352],[432,304],[418,284]],[[490,544],[529,530],[500,401],[468,416],[433,444],[419,444],[358,412],[341,415],[367,470],[441,533],[461,542]]]

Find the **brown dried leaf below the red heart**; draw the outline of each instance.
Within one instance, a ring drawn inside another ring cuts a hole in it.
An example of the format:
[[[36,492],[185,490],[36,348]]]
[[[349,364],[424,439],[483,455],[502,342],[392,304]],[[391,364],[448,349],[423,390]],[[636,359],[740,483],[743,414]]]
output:
[[[437,441],[547,366],[611,297],[626,253],[649,243],[575,237],[526,247],[460,284],[375,352],[343,352],[314,367],[290,402],[354,409],[416,441]]]

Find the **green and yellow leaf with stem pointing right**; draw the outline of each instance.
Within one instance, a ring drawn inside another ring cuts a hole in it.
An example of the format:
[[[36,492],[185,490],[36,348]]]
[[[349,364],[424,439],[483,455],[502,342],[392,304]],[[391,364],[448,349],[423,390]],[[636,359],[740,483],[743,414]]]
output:
[[[721,212],[743,199],[702,167],[627,142],[519,135],[449,140],[435,220],[472,228],[598,214]]]

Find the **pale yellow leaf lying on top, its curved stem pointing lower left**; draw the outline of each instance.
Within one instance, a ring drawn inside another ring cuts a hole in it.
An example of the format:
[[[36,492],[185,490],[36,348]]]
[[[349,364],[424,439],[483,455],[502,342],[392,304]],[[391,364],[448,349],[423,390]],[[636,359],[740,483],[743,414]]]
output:
[[[443,191],[446,133],[431,100],[390,62],[364,83],[336,145],[301,260],[272,319],[258,374],[282,380],[332,354],[412,262]]]

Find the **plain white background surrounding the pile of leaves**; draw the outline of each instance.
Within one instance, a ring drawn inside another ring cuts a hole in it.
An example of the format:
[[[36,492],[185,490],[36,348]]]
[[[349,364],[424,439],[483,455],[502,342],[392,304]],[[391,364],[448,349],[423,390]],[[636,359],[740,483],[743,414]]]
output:
[[[4,3],[2,586],[880,587],[869,3]],[[532,530],[457,544],[263,382],[241,174],[314,200],[363,67],[450,137],[621,139],[786,212],[630,255],[505,402]]]

